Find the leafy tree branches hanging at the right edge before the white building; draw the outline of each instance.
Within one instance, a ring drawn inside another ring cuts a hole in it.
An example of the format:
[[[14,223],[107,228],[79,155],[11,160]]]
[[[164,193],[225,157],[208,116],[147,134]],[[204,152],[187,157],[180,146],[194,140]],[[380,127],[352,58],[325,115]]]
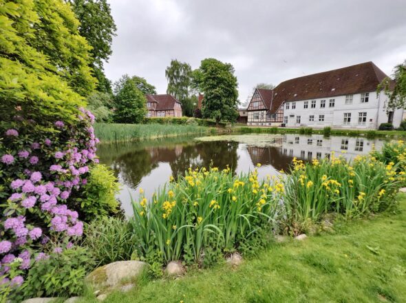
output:
[[[396,65],[394,80],[386,77],[378,85],[377,92],[384,91],[389,97],[387,112],[393,109],[404,108],[406,101],[406,60],[403,64]]]

